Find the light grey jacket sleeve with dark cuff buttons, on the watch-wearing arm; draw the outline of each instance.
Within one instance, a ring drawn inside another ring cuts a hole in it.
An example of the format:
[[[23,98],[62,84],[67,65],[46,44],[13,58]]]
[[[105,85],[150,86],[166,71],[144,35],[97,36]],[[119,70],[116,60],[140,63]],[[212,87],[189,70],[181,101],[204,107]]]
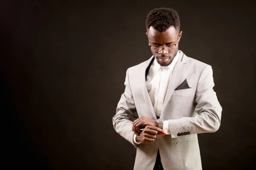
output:
[[[196,88],[195,111],[198,114],[195,117],[168,120],[172,138],[179,137],[178,133],[196,134],[218,130],[222,108],[213,87],[212,67],[207,65],[201,72]]]

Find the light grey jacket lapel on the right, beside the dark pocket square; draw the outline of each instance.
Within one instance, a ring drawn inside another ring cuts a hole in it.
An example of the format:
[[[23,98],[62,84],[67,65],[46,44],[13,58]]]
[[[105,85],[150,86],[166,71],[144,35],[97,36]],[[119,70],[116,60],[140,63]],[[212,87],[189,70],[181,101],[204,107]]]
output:
[[[175,67],[174,67],[174,70],[173,70],[173,73],[172,73],[172,76],[171,76],[171,79],[170,79],[170,83],[169,83],[169,86],[168,86],[168,89],[167,89],[167,92],[166,92],[166,97],[164,99],[162,113],[163,113],[164,109],[166,108],[166,105],[169,102],[169,100],[170,100],[170,98],[173,94],[173,91],[175,90],[175,88],[177,86],[177,83],[179,82],[180,77],[183,74],[183,71],[186,68],[186,65],[185,65],[186,55],[183,54],[183,52],[180,51],[180,50],[179,50],[179,53],[180,53],[180,56],[179,56],[179,59],[178,59],[177,63],[175,64]],[[161,114],[161,117],[162,116],[163,116],[163,114]]]

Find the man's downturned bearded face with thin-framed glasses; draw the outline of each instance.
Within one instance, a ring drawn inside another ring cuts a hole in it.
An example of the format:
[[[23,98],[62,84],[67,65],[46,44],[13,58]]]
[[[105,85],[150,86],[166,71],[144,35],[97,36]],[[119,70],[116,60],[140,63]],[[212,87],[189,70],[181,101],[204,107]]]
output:
[[[170,65],[173,58],[178,52],[178,42],[180,41],[182,31],[180,31],[180,33],[177,33],[176,29],[172,26],[165,32],[158,32],[151,26],[146,34],[148,36],[149,45],[153,45],[151,46],[151,52],[154,55],[155,59],[157,59],[157,62],[161,66]],[[161,46],[162,49],[159,48],[160,51],[153,51],[153,48],[156,48],[154,46],[157,45]],[[166,50],[166,48],[163,48],[166,45],[169,45],[166,47],[168,50]]]

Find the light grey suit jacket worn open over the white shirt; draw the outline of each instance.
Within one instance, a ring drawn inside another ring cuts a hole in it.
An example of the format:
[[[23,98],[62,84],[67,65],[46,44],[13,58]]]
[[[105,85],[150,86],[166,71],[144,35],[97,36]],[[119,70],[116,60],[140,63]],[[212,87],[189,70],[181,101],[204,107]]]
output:
[[[131,131],[133,121],[141,116],[157,119],[145,83],[154,57],[126,72],[113,126],[137,148],[134,170],[153,170],[158,148],[164,170],[201,170],[197,134],[215,132],[220,126],[222,108],[212,89],[212,67],[179,52],[160,116],[169,120],[171,135],[157,136],[154,142],[137,145]],[[191,88],[175,90],[185,79]]]

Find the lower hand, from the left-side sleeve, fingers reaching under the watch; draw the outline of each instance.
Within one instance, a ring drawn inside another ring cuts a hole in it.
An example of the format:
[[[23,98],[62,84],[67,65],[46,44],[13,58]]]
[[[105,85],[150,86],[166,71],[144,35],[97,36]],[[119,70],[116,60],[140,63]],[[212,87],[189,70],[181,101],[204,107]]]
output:
[[[136,136],[136,141],[141,142],[143,144],[148,142],[154,142],[154,139],[157,138],[157,135],[163,136],[166,135],[166,132],[163,129],[155,126],[146,126],[144,130],[140,133],[140,135]]]

